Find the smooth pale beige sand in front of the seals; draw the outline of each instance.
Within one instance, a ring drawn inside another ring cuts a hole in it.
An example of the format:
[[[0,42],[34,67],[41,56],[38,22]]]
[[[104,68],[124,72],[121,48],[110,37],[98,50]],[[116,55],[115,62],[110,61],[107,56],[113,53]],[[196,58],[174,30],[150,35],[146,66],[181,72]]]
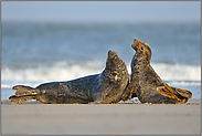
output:
[[[2,103],[1,133],[12,135],[200,135],[200,100],[181,105]]]

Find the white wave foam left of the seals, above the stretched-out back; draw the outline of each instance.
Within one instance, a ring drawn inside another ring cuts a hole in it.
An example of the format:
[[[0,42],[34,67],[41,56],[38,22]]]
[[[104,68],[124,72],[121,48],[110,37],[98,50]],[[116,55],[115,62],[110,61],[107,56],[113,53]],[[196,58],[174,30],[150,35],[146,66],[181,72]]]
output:
[[[26,69],[10,69],[4,67],[1,71],[2,81],[18,81],[18,82],[44,82],[44,81],[63,81],[73,80],[91,74],[102,72],[103,63],[86,64],[65,64],[64,62],[55,63],[53,65],[40,65],[38,67]]]

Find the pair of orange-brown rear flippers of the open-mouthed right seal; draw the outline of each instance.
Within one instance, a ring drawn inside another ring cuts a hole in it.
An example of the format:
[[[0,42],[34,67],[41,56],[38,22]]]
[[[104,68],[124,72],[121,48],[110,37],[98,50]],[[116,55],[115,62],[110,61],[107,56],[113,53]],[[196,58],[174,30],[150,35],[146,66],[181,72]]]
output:
[[[180,102],[187,102],[188,98],[192,97],[192,93],[187,90],[170,87],[168,84],[164,83],[164,86],[157,87],[157,91],[164,96],[172,97]],[[176,92],[174,92],[176,91]]]

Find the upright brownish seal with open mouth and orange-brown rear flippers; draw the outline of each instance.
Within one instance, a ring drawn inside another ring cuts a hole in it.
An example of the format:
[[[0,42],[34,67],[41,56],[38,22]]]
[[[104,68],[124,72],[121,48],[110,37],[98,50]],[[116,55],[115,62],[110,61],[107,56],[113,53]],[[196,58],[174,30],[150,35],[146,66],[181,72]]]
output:
[[[121,100],[137,96],[141,103],[184,104],[192,97],[190,91],[171,87],[159,77],[150,65],[151,49],[147,43],[135,39],[131,48],[136,50],[131,60],[131,79]]]

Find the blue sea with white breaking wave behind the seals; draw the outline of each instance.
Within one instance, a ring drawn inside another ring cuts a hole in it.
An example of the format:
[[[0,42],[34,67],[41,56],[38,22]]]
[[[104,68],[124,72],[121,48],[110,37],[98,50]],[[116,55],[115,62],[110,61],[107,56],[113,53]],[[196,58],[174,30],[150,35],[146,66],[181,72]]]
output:
[[[151,65],[169,85],[201,98],[201,25],[167,23],[1,23],[1,100],[13,85],[68,81],[100,73],[107,52],[117,52],[131,73],[135,38],[152,50]]]

